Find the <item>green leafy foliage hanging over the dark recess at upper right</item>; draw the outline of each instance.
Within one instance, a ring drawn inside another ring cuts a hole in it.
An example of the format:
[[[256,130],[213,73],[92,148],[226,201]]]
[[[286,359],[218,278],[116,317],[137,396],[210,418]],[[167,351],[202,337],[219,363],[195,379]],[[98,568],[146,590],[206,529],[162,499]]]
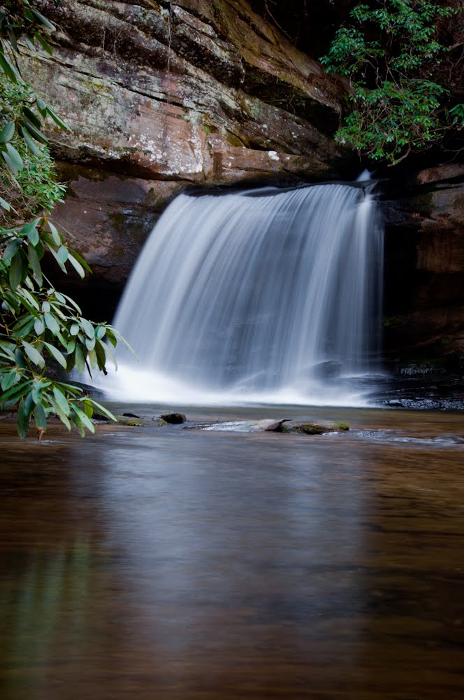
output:
[[[396,163],[464,124],[464,105],[434,76],[447,47],[437,24],[457,11],[428,0],[372,0],[338,29],[326,71],[349,79],[351,111],[335,138],[373,160]]]

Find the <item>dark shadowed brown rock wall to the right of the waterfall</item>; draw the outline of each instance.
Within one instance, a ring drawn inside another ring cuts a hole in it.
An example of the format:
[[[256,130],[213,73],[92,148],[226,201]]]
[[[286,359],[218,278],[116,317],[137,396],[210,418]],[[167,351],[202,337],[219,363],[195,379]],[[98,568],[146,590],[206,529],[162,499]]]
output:
[[[405,172],[386,186],[390,356],[464,354],[464,165]]]

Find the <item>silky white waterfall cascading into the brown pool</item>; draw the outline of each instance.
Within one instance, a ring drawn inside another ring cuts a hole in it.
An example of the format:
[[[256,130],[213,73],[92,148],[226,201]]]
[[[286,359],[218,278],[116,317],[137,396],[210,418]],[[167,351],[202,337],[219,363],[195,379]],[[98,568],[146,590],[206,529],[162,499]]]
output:
[[[177,404],[362,403],[382,231],[364,188],[180,195],[133,270],[109,392]],[[108,390],[108,383],[105,388]]]

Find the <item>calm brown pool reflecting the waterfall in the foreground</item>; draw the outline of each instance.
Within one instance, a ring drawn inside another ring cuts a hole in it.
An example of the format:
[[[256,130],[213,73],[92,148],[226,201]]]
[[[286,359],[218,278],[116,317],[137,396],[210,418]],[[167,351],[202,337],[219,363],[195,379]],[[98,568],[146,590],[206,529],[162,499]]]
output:
[[[463,414],[325,414],[351,432],[2,421],[0,697],[461,698]]]

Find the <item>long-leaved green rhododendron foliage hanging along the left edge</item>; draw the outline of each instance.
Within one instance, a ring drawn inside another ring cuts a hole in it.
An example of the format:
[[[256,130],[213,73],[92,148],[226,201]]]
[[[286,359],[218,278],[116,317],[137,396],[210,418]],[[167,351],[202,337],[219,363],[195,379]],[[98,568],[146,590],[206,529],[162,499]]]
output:
[[[94,432],[94,409],[113,419],[82,388],[52,378],[50,367],[106,372],[122,339],[111,325],[83,318],[43,272],[44,255],[63,272],[89,272],[50,218],[64,186],[56,182],[43,124],[51,118],[68,127],[24,83],[16,61],[22,50],[52,52],[54,29],[28,0],[0,8],[0,409],[17,409],[20,437],[32,419],[41,434],[50,414],[81,435]]]

